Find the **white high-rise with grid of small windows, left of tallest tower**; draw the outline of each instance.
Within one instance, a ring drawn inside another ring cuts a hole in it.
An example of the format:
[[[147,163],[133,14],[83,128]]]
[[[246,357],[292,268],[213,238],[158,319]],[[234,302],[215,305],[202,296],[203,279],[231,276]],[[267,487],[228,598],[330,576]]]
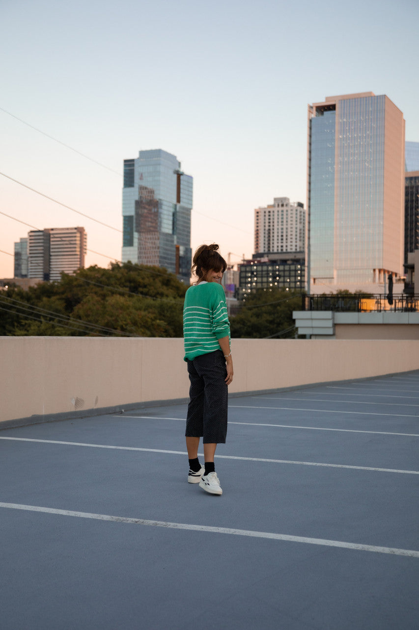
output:
[[[255,209],[255,253],[304,251],[306,211],[301,202],[275,197],[273,205]]]

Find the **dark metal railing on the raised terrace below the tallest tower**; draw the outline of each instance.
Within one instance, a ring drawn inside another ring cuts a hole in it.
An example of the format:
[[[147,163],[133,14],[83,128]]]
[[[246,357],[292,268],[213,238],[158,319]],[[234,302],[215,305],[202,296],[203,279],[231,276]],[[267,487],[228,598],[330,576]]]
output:
[[[418,312],[419,295],[302,295],[303,311]]]

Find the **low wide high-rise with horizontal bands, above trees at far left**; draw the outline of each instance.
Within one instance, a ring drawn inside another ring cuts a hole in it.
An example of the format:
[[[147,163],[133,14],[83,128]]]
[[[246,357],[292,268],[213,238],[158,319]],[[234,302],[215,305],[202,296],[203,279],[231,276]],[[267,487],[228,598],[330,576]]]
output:
[[[61,272],[74,273],[84,267],[84,227],[50,227],[29,232],[29,277],[60,280]]]

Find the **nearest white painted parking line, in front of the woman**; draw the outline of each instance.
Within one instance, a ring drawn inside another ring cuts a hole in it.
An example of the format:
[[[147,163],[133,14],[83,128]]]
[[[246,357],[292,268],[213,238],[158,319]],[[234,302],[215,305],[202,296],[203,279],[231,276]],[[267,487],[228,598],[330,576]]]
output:
[[[323,538],[308,538],[305,536],[289,536],[288,534],[274,534],[271,532],[257,532],[247,529],[231,529],[230,527],[210,527],[209,525],[191,525],[187,523],[170,523],[162,520],[145,520],[145,518],[128,518],[121,516],[111,516],[108,514],[91,514],[89,512],[74,512],[73,510],[57,510],[55,508],[45,508],[38,505],[21,505],[20,503],[0,503],[0,507],[12,510],[25,510],[28,512],[43,512],[60,516],[72,516],[77,518],[93,518],[94,520],[106,520],[116,523],[128,523],[132,525],[149,525],[151,527],[166,527],[169,529],[183,529],[193,532],[206,532],[210,534],[230,534],[232,536],[249,536],[253,538],[264,538],[274,541],[303,542],[311,545],[322,545],[326,547],[341,547],[342,549],[353,549],[354,551],[373,551],[376,553],[392,554],[393,556],[408,556],[419,558],[419,551],[413,549],[397,549],[394,547],[377,547],[375,545],[363,545],[354,542],[329,541]]]

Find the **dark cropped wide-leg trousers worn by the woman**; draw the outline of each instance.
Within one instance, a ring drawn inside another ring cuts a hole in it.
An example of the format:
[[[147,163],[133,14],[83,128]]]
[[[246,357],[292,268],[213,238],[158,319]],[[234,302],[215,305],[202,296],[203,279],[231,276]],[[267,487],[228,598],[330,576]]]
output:
[[[227,370],[221,350],[187,361],[189,405],[186,437],[203,437],[203,444],[225,444],[227,435]]]

